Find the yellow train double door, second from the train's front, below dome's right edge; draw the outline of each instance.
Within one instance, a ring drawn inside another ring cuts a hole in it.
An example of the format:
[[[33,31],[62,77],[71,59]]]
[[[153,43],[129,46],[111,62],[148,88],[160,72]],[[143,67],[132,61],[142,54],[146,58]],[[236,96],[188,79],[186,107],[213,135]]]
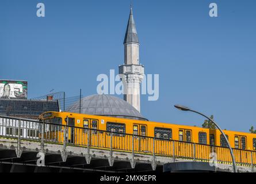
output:
[[[133,147],[135,151],[148,151],[147,125],[133,124]]]

